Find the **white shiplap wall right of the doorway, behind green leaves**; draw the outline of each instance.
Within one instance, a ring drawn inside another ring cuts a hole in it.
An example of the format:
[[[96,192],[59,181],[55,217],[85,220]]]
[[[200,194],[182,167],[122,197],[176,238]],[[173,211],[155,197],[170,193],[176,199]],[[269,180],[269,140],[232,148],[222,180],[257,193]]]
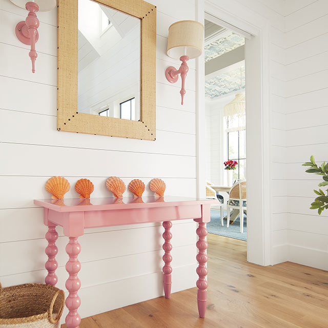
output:
[[[328,270],[328,213],[309,209],[320,177],[301,166],[310,155],[318,163],[328,159],[328,3],[286,1],[284,10],[284,61],[276,76],[283,81],[281,92],[276,90],[284,106],[275,115],[274,234],[286,259]]]

